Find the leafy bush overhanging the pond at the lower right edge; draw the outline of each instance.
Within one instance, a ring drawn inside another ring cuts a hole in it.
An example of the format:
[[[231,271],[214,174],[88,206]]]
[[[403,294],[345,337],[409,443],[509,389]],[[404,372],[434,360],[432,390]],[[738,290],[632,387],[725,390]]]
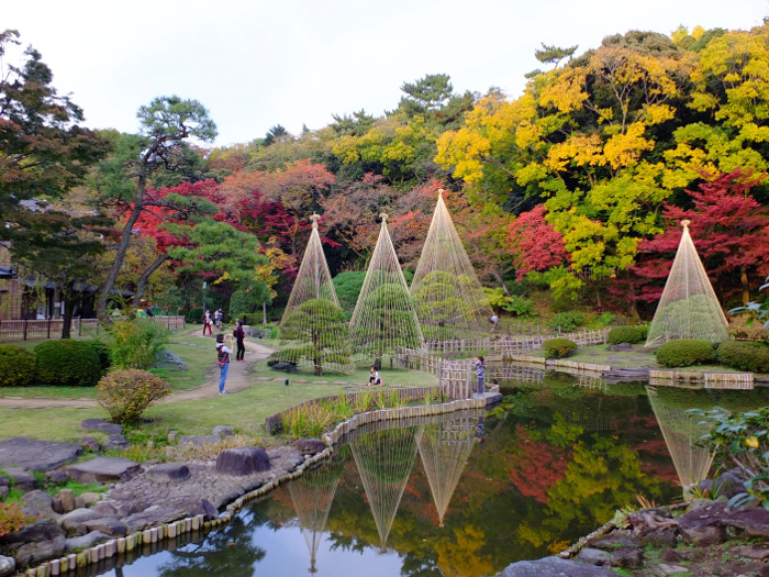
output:
[[[746,413],[700,411],[715,421],[704,444],[715,453],[723,468],[735,464],[747,479],[745,492],[734,496],[729,506],[760,504],[769,511],[769,407]]]

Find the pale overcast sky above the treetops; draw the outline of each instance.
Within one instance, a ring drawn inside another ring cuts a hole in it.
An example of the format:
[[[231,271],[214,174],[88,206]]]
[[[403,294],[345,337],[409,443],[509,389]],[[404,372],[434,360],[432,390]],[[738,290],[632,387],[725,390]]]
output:
[[[579,54],[628,30],[747,30],[769,0],[2,0],[0,13],[88,126],[137,132],[140,106],[178,95],[209,109],[226,145],[381,115],[426,74],[515,97],[540,43]]]

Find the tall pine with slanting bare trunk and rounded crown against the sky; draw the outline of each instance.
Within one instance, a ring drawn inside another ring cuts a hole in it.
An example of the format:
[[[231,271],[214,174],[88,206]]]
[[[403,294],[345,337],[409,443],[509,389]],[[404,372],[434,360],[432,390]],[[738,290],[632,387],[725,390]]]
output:
[[[158,198],[149,187],[153,173],[161,166],[172,169],[175,153],[187,138],[211,142],[216,136],[216,125],[209,118],[205,107],[197,100],[185,100],[177,96],[158,97],[148,106],[141,107],[137,116],[142,134],[124,138],[119,154],[102,165],[100,178],[97,179],[97,186],[105,198],[131,207],[123,224],[115,259],[97,301],[97,314],[101,319],[105,315],[107,300],[142,211],[172,206],[172,201]]]

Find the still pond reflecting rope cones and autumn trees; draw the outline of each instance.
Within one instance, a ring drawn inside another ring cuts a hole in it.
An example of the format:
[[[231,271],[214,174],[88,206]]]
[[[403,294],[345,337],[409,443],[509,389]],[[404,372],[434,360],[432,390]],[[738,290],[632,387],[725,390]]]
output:
[[[688,409],[769,404],[767,389],[655,390],[526,370],[509,371],[490,413],[358,429],[332,461],[223,529],[82,575],[493,575],[561,551],[636,496],[680,499],[711,466]]]

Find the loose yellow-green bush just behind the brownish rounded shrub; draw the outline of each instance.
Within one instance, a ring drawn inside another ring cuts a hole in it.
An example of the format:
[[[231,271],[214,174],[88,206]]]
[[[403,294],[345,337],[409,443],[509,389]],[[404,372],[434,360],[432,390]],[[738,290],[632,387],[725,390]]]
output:
[[[148,369],[168,344],[170,332],[147,319],[116,321],[109,329],[110,356],[116,368]]]

